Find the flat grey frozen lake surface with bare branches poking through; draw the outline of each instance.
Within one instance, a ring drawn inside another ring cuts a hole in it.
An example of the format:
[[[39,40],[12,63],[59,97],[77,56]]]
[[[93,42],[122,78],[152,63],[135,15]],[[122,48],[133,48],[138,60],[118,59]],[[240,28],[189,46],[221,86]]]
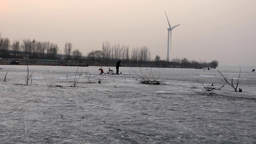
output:
[[[242,92],[234,92],[217,70],[236,84],[239,67],[152,68],[166,85],[136,81],[132,69],[140,74],[140,68],[120,67],[122,74],[112,75],[99,74],[99,66],[79,67],[76,87],[70,86],[77,67],[28,66],[34,71],[31,85],[25,85],[26,68],[0,65],[0,143],[256,143],[256,72],[251,69],[241,67]],[[150,68],[141,71],[149,76]],[[88,83],[86,72],[95,83]],[[224,87],[206,91],[197,80]]]

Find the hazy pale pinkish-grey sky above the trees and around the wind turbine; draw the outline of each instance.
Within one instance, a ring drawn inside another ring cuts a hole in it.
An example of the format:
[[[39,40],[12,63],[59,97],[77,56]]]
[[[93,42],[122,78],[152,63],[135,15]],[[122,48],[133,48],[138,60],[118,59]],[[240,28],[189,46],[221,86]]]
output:
[[[256,0],[0,0],[1,37],[66,42],[84,56],[103,42],[147,46],[170,60],[218,60],[219,66],[256,68]],[[21,41],[21,40],[20,40]],[[22,41],[21,41],[22,42]]]

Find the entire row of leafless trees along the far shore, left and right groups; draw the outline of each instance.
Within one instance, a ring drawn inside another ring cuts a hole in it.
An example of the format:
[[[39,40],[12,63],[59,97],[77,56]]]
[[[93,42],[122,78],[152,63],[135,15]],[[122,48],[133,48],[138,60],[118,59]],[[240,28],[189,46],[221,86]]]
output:
[[[58,52],[58,45],[53,42],[24,39],[22,42],[14,40],[11,43],[8,38],[2,38],[0,34],[0,58],[11,56],[12,58],[29,57],[29,59],[81,61],[82,52],[78,49],[73,50],[71,42],[66,42],[63,50],[64,58]],[[170,67],[172,65],[180,66],[180,68],[216,68],[219,63],[217,60],[197,62],[195,60],[189,61],[187,58],[174,58],[172,61],[166,62],[166,60],[161,60],[158,55],[152,59],[150,49],[147,46],[130,49],[128,45],[111,45],[108,41],[103,42],[102,50],[92,50],[85,59],[91,63],[100,63],[102,66],[113,66],[118,60],[121,60],[123,64],[126,63],[126,66]]]

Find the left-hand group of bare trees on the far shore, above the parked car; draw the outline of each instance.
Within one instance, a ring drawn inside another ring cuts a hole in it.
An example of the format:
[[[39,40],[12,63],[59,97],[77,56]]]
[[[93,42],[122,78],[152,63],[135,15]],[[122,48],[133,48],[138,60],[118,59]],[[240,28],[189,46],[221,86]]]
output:
[[[21,39],[21,38],[20,38]],[[24,58],[29,59],[61,59],[58,53],[58,44],[49,41],[36,41],[35,39],[14,40],[2,38],[0,34],[0,58]],[[80,50],[72,50],[72,43],[66,42],[64,47],[65,60],[79,60],[82,57]]]

